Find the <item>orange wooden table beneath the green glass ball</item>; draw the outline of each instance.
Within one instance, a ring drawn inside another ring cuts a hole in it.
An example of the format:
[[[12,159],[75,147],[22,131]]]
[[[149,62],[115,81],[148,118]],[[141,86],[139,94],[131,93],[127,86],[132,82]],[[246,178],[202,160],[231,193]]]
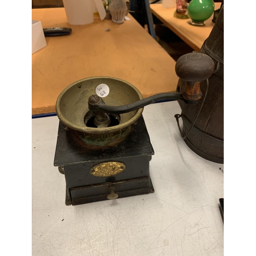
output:
[[[219,9],[221,3],[215,3],[215,10]],[[195,51],[199,51],[205,39],[209,36],[215,23],[212,17],[207,19],[204,23],[205,26],[193,26],[189,22],[191,19],[178,19],[174,17],[176,8],[163,8],[162,4],[150,5],[152,13],[161,20],[170,30],[178,35],[183,41],[186,42]]]

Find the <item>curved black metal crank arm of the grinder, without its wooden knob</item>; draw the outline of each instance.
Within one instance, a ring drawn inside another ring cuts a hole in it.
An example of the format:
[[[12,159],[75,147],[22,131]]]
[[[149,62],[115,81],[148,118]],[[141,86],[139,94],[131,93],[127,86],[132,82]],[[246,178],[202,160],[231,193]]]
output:
[[[98,95],[92,95],[88,99],[89,110],[91,111],[102,111],[108,114],[123,114],[134,110],[143,108],[146,105],[162,101],[162,100],[183,100],[181,93],[160,93],[134,103],[122,105],[122,106],[109,106],[105,105],[105,102]],[[191,101],[192,102],[192,101]],[[195,102],[195,101],[194,101]]]

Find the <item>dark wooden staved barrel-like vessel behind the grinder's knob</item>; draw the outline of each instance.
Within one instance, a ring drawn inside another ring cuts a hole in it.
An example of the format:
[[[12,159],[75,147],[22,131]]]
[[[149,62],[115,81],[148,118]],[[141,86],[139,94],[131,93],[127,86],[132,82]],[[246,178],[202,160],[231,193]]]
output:
[[[224,6],[220,10],[216,24],[205,40],[200,52],[209,55],[215,62],[215,71],[209,78],[208,93],[202,111],[184,140],[199,156],[217,163],[224,162]],[[179,79],[177,91],[183,92],[185,82]],[[206,81],[201,82],[205,95]],[[182,110],[183,134],[186,134],[202,104],[187,105],[178,101]]]

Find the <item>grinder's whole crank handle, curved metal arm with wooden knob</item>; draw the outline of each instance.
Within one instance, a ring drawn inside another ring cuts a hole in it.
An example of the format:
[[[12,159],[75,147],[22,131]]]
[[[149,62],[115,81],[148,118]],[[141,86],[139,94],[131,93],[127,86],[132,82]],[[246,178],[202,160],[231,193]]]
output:
[[[186,104],[194,105],[202,97],[201,81],[208,79],[214,69],[214,61],[208,55],[198,52],[188,53],[181,56],[175,66],[177,76],[185,80],[186,88],[184,92],[160,93],[122,106],[105,105],[102,98],[92,95],[88,100],[89,110],[108,114],[123,114],[161,100],[183,100]]]

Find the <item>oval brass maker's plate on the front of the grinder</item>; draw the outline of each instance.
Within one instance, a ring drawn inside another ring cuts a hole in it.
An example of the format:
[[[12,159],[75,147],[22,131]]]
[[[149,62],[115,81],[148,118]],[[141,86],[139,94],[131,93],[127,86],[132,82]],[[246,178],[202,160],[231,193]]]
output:
[[[109,177],[120,174],[125,167],[125,164],[122,162],[103,162],[94,165],[90,170],[90,174],[96,177]]]

